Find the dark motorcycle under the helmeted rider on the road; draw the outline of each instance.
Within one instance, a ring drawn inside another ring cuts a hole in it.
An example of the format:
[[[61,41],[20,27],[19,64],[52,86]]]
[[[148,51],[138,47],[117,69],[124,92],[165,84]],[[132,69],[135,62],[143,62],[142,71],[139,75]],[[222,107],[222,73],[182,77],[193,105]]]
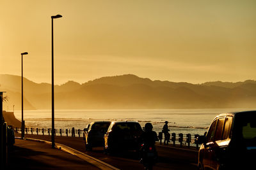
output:
[[[156,147],[153,145],[141,145],[140,150],[141,160],[140,162],[143,164],[146,170],[152,170],[154,164],[157,162],[157,152]]]

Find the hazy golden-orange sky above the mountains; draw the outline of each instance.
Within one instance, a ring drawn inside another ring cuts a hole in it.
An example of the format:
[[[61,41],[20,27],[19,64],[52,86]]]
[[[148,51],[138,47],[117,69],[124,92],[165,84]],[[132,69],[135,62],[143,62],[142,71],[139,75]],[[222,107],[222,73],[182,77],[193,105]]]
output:
[[[256,80],[256,1],[0,1],[0,74],[55,83],[136,74]]]

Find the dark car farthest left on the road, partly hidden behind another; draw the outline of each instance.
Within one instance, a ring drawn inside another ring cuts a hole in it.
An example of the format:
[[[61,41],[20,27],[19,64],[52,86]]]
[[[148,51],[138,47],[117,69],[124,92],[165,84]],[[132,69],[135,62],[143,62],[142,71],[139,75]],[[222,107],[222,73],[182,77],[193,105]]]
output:
[[[96,146],[104,146],[104,134],[111,124],[109,121],[92,122],[84,129],[84,140],[86,150],[92,150]]]

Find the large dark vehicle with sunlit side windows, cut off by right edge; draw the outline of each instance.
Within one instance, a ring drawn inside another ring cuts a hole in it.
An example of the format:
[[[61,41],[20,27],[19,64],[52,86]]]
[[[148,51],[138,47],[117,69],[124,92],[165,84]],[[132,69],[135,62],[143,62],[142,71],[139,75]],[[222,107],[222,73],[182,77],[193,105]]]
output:
[[[198,169],[253,169],[256,160],[256,111],[223,113],[198,138]]]

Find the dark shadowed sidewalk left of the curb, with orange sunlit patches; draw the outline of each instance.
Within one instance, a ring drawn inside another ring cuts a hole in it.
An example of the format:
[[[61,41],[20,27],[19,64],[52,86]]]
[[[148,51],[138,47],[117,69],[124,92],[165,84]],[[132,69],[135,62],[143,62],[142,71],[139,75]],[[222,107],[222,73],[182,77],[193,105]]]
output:
[[[99,169],[92,164],[51,145],[15,139],[9,154],[8,169]]]

